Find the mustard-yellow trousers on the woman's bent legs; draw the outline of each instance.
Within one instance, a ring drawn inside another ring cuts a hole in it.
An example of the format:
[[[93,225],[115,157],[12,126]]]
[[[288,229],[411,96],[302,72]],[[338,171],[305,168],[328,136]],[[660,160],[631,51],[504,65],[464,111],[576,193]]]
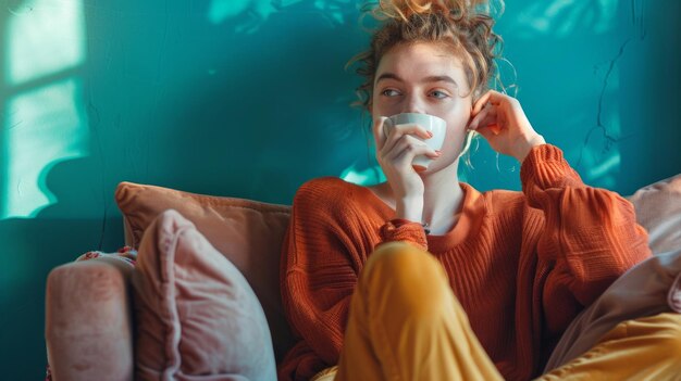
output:
[[[503,378],[437,259],[393,242],[370,255],[360,274],[339,364],[312,378],[331,380]],[[681,380],[681,315],[624,321],[591,351],[537,380]]]

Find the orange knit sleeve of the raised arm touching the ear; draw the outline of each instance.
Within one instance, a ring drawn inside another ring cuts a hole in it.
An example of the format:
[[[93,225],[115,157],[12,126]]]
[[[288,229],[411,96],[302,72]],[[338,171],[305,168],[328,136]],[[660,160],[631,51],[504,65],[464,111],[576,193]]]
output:
[[[557,336],[620,275],[651,255],[633,205],[619,194],[585,186],[549,144],[535,147],[521,166],[530,206],[544,212],[537,242],[546,274],[542,304],[546,328]]]

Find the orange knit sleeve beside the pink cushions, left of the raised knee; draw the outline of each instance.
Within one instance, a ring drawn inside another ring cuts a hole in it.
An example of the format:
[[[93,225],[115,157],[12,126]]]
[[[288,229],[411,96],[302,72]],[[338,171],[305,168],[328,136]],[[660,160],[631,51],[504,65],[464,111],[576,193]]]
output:
[[[294,199],[282,247],[281,292],[300,341],[280,364],[280,380],[309,380],[338,361],[350,296],[366,261],[358,218],[334,194],[342,191],[312,180]]]

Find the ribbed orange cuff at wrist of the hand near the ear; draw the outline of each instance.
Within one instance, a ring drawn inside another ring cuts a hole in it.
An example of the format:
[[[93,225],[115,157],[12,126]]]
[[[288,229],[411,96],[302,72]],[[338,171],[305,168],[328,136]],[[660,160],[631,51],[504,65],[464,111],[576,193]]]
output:
[[[520,180],[525,194],[533,187],[546,190],[582,185],[579,175],[562,156],[562,151],[552,144],[541,144],[530,151],[520,167]]]

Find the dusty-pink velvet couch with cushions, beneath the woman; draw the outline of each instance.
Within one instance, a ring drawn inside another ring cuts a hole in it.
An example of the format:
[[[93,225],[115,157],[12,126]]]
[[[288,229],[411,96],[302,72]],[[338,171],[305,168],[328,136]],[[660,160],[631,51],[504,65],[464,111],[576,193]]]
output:
[[[654,253],[681,249],[681,175],[629,200]],[[129,247],[85,255],[48,276],[52,378],[274,379],[295,341],[278,290],[290,206],[132,182],[119,185],[115,201]],[[222,290],[231,291],[215,299]],[[216,300],[238,303],[214,309]]]

